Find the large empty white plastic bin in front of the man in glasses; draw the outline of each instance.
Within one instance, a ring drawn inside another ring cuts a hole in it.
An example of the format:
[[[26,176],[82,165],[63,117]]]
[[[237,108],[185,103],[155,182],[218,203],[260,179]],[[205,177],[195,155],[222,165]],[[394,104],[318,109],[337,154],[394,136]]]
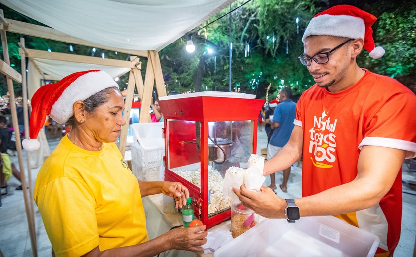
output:
[[[332,216],[302,217],[296,223],[265,219],[214,257],[372,257],[379,243],[376,235]]]

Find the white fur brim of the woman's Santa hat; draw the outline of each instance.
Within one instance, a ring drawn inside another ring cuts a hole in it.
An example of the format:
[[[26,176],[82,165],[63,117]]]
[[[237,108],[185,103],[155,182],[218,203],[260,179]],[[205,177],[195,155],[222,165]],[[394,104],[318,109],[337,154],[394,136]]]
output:
[[[108,87],[119,87],[117,82],[104,71],[89,72],[78,77],[69,85],[59,99],[52,105],[49,116],[64,124],[74,114],[72,106]]]

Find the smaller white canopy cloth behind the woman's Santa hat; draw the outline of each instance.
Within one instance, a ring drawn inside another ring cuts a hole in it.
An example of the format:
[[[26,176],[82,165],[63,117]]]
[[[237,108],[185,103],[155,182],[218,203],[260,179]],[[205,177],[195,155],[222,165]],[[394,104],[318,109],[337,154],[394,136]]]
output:
[[[130,68],[127,67],[111,67],[90,63],[75,63],[39,58],[31,58],[31,60],[39,67],[41,72],[48,74],[48,78],[51,80],[61,80],[63,77],[78,71],[101,70],[107,72],[112,78],[120,77],[130,71]]]

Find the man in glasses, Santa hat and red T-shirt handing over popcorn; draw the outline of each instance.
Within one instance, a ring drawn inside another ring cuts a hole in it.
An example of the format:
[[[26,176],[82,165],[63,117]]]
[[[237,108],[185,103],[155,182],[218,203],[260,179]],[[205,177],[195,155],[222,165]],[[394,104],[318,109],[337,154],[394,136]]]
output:
[[[285,201],[266,187],[254,193],[244,185],[234,192],[268,218],[336,215],[380,238],[376,256],[392,256],[400,238],[401,165],[416,156],[416,97],[394,79],[358,67],[363,46],[373,58],[384,53],[372,39],[375,20],[339,5],[305,30],[299,59],[316,84],[297,103],[289,142],[264,166],[268,175],[303,154],[303,197]]]

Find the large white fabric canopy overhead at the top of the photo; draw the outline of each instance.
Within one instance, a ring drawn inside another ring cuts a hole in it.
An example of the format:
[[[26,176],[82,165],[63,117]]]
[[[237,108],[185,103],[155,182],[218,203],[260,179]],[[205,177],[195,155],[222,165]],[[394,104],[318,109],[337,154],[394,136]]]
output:
[[[0,0],[71,36],[132,50],[161,50],[234,0]]]

